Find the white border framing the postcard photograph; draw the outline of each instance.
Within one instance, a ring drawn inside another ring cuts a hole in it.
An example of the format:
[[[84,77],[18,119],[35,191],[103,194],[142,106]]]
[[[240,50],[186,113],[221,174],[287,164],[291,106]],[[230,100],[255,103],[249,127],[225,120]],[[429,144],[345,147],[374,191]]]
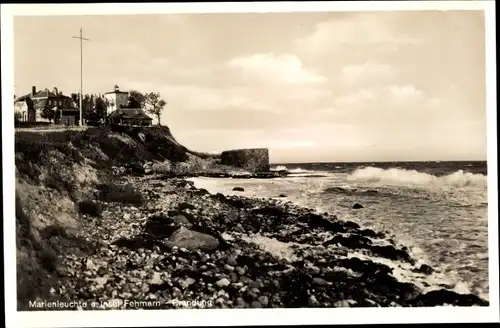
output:
[[[5,313],[7,327],[89,326],[226,326],[498,322],[498,189],[496,154],[496,48],[494,1],[387,1],[387,2],[281,2],[281,3],[176,3],[176,4],[30,4],[1,5],[2,118],[4,181]],[[175,311],[17,312],[14,193],[14,128],[12,125],[13,16],[110,15],[220,12],[311,12],[389,10],[484,10],[486,18],[488,225],[490,306],[488,308],[367,308],[367,309],[251,309]]]

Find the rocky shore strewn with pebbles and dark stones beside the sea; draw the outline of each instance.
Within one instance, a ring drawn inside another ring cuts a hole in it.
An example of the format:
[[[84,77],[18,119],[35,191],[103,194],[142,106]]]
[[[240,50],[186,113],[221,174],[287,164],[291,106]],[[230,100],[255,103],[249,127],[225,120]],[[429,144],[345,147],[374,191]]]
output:
[[[78,237],[91,246],[78,253],[68,244],[52,300],[96,302],[90,310],[488,305],[448,286],[424,291],[398,280],[372,259],[422,279],[433,268],[383,232],[282,200],[214,195],[183,178],[138,173],[80,203]]]

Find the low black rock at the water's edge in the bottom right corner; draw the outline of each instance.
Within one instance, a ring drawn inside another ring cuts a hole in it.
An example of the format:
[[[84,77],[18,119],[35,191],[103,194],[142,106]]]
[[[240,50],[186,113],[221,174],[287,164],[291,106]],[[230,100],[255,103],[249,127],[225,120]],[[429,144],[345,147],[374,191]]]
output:
[[[416,306],[441,306],[450,304],[454,306],[489,306],[489,302],[472,294],[458,294],[449,290],[433,290],[421,294],[410,301]]]

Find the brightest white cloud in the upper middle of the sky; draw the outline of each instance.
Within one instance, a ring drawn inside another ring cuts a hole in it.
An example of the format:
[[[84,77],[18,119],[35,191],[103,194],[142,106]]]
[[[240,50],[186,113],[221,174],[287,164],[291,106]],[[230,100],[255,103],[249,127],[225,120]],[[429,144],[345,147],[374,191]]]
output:
[[[268,53],[238,57],[230,60],[228,65],[238,69],[241,79],[249,83],[303,85],[326,81],[325,77],[306,70],[301,60],[290,54]]]

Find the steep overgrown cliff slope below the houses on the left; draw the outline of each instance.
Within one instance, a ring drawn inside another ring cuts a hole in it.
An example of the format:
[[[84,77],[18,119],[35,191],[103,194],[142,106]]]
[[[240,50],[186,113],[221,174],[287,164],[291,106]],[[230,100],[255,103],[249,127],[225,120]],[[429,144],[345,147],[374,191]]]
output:
[[[113,168],[142,167],[154,161],[188,171],[206,169],[217,157],[186,149],[168,127],[16,132],[18,308],[26,308],[37,296],[50,297],[51,280],[58,277],[58,258],[63,253],[98,248],[76,237],[79,206],[110,185]],[[136,197],[132,187],[108,195],[124,200]]]

